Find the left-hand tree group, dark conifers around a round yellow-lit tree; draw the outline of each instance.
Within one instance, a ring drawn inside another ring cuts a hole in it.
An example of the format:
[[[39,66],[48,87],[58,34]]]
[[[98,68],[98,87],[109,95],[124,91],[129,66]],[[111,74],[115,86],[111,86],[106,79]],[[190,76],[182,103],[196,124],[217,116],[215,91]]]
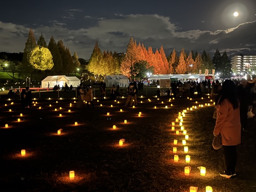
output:
[[[6,63],[6,69],[13,74],[17,73],[25,76],[35,72],[47,71],[51,75],[61,75],[74,73],[80,66],[76,52],[73,56],[70,49],[65,47],[60,39],[57,43],[53,36],[47,45],[44,36],[41,34],[37,43],[32,29],[29,30],[28,39],[25,44],[22,61],[2,61]]]

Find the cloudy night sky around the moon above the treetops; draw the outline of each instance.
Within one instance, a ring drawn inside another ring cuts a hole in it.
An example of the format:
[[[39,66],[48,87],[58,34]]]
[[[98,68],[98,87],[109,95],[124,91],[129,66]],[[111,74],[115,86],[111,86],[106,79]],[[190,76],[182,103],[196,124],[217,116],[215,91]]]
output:
[[[71,54],[89,59],[95,42],[102,50],[126,52],[131,36],[166,56],[218,48],[256,55],[256,0],[9,0],[0,12],[0,52],[23,52],[32,28],[49,43],[62,39]],[[233,16],[238,12],[239,16]]]

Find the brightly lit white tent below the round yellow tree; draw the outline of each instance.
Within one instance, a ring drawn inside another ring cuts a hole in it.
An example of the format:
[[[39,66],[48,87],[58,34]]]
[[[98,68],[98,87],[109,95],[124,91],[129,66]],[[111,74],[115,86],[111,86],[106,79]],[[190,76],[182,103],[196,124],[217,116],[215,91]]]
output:
[[[67,76],[48,76],[44,80],[41,81],[41,87],[42,88],[48,88],[48,82],[50,84],[50,88],[54,87],[56,84],[60,87],[65,86],[65,82],[67,82],[67,85],[70,87],[72,84],[73,87],[77,87],[81,80],[77,77],[67,77]]]

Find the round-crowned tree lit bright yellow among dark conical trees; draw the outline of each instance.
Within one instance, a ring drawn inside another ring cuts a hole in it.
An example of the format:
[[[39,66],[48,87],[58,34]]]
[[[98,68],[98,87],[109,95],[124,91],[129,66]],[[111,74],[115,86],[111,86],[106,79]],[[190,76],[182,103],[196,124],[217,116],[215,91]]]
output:
[[[50,70],[53,67],[52,54],[45,47],[35,47],[28,58],[29,63],[38,70]]]

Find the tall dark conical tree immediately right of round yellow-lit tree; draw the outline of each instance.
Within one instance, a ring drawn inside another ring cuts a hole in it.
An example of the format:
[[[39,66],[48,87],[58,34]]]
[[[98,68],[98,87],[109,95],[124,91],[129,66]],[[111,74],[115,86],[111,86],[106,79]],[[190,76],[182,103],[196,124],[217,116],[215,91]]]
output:
[[[63,62],[61,59],[61,54],[58,50],[58,45],[55,42],[53,36],[50,38],[49,44],[48,44],[48,49],[52,54],[52,60],[53,60],[53,67],[52,67],[52,72],[55,73],[56,75],[61,74]]]

